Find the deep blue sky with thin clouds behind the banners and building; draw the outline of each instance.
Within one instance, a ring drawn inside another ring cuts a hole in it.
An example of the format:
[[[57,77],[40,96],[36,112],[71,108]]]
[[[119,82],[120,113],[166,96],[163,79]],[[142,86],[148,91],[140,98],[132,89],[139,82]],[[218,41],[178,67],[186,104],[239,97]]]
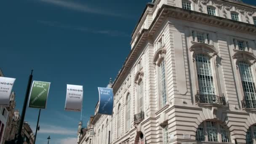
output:
[[[83,85],[83,122],[94,114],[97,87],[115,79],[131,50],[131,33],[151,0],[5,0],[0,5],[0,50],[5,77],[16,78],[16,109],[22,109],[27,80],[51,82],[41,111],[37,144],[70,144],[80,112],[64,111],[66,85]],[[256,5],[256,1],[244,0]],[[25,121],[35,131],[38,109]],[[65,143],[64,143],[65,141]]]

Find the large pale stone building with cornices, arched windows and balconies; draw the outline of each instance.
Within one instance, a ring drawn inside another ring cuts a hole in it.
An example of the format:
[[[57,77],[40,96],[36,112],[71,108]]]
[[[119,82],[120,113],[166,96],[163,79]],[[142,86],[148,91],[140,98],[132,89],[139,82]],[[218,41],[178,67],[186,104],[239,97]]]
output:
[[[153,0],[93,144],[256,144],[256,6]]]

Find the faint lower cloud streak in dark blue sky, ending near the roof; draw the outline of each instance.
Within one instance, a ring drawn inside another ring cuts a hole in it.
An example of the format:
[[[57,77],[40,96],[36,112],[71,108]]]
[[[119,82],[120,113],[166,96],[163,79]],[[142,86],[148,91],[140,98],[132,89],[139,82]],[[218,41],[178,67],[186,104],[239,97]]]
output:
[[[129,37],[125,32],[120,32],[118,30],[95,30],[91,29],[88,27],[80,27],[80,26],[74,26],[74,25],[68,25],[68,24],[61,24],[57,21],[42,21],[38,20],[37,21],[40,24],[47,25],[49,27],[59,27],[63,29],[72,29],[72,30],[77,30],[81,32],[89,32],[89,33],[94,33],[94,34],[102,34],[102,35],[109,35],[112,37]]]

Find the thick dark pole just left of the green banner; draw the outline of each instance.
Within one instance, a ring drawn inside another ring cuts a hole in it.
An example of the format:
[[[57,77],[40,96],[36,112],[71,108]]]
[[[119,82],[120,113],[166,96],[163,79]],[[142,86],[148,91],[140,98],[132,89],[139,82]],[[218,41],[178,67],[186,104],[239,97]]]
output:
[[[24,118],[25,118],[26,109],[27,109],[27,101],[28,101],[28,98],[29,98],[29,91],[30,91],[31,82],[32,82],[32,78],[33,78],[32,74],[33,74],[33,70],[31,70],[31,74],[29,75],[29,81],[27,83],[27,91],[26,91],[26,95],[25,95],[25,99],[24,99],[23,108],[22,108],[21,120],[20,120],[20,123],[19,123],[19,131],[16,135],[16,144],[21,144],[22,143],[21,131],[22,131],[23,123],[24,123]]]

